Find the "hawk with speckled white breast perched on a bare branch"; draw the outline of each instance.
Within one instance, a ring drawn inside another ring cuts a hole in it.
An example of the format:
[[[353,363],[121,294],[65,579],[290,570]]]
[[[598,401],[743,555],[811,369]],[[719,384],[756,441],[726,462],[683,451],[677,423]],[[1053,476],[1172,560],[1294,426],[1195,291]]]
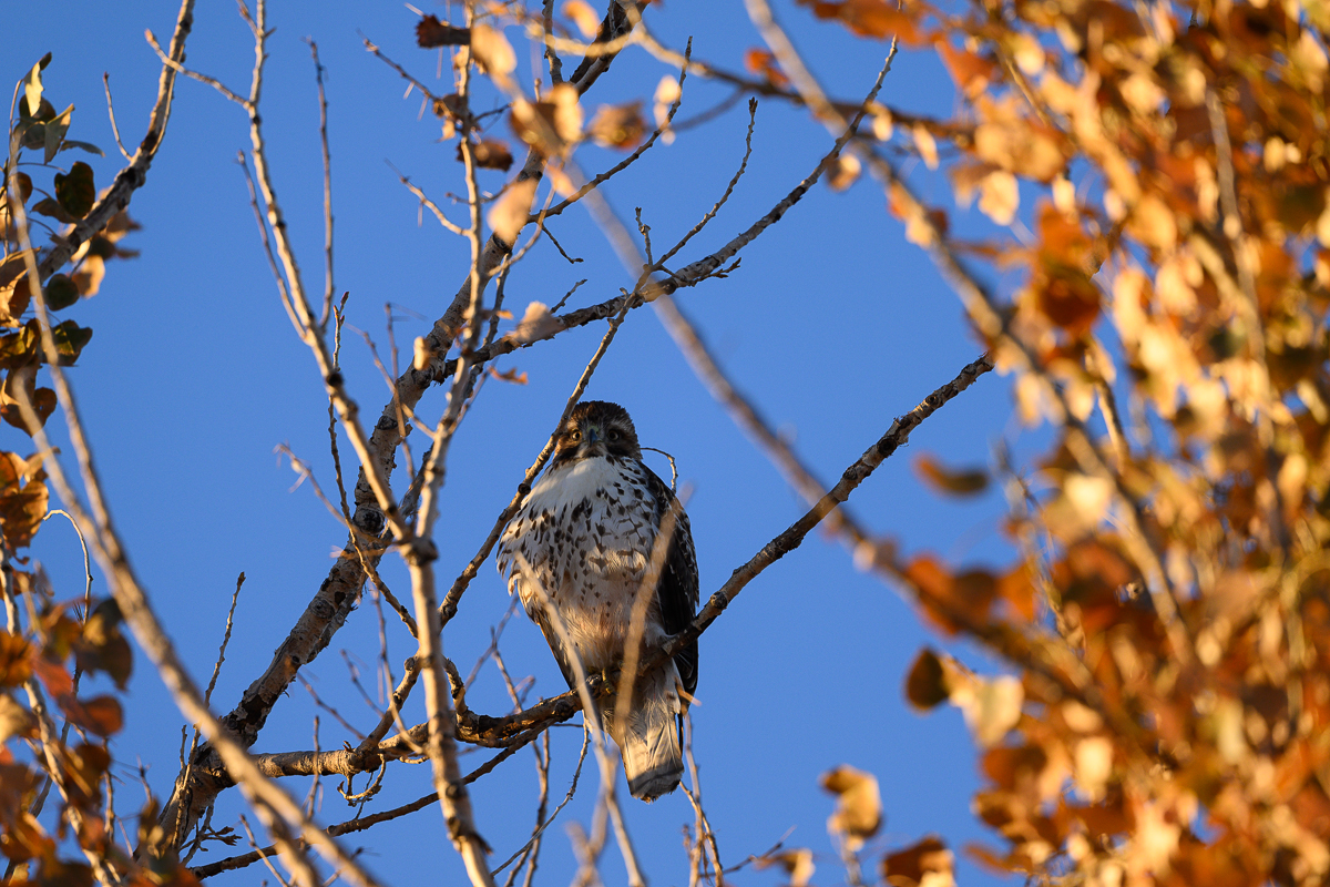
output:
[[[628,411],[601,400],[577,404],[559,430],[549,469],[504,529],[496,559],[508,593],[521,597],[569,686],[576,673],[551,622],[547,598],[588,674],[618,666],[633,601],[650,569],[662,523],[670,520],[673,532],[648,606],[644,645],[660,644],[693,621],[697,556],[688,516],[673,504],[669,485],[642,463]],[[672,508],[676,517],[668,519]],[[637,681],[622,723],[614,717],[616,697],[600,701],[601,723],[618,746],[634,798],[654,801],[678,787],[682,715],[696,688],[693,641]]]

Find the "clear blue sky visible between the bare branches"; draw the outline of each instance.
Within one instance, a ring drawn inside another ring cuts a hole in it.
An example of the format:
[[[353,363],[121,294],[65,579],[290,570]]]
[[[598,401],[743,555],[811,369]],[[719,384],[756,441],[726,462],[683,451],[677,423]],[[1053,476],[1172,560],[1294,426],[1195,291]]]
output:
[[[830,92],[858,97],[867,90],[886,52],[883,44],[818,23],[806,8],[782,3],[777,9]],[[443,8],[426,11],[446,16]],[[403,4],[274,4],[270,15],[277,31],[269,43],[263,117],[275,185],[306,281],[313,290],[322,289],[318,118],[313,68],[302,43],[310,36],[329,69],[338,291],[351,293],[348,323],[368,332],[384,355],[384,303],[396,306],[396,340],[410,359],[411,340],[456,291],[468,253],[464,241],[443,231],[428,214],[418,225],[415,199],[384,161],[440,202],[448,191],[464,193],[464,185],[455,145],[439,142],[432,116],[418,114],[418,96],[402,100],[404,82],[364,52],[358,32],[431,84],[438,82],[438,56],[415,48],[416,16]],[[165,41],[174,16],[176,4],[162,0],[137,0],[114,11],[104,4],[48,1],[7,13],[12,35],[7,76],[17,80],[44,52],[53,52],[45,73],[48,96],[57,109],[76,105],[72,138],[96,142],[108,153],[92,160],[98,186],[109,184],[122,165],[110,136],[101,74],[110,74],[125,142],[137,144],[160,70],[142,32],[150,28]],[[648,20],[665,43],[681,48],[692,35],[697,59],[729,69],[739,69],[745,49],[759,45],[737,0],[666,0],[650,7]],[[528,64],[519,32],[512,29],[509,36],[521,64]],[[233,89],[247,88],[253,48],[233,4],[200,4],[188,56],[192,68]],[[641,51],[625,53],[584,101],[588,116],[601,102],[645,98],[649,106],[666,73],[669,68]],[[443,82],[436,89],[450,90]],[[681,118],[710,108],[726,92],[690,78]],[[882,101],[946,114],[952,108],[951,81],[932,56],[902,53]],[[670,242],[724,190],[742,156],[745,117],[739,102],[673,145],[654,148],[606,188],[610,203],[625,221],[633,207],[642,207],[653,241]],[[493,132],[516,142],[503,124]],[[806,113],[773,100],[758,109],[753,142],[747,176],[721,215],[681,255],[681,265],[717,249],[766,213],[815,166],[830,138]],[[201,682],[211,669],[235,576],[243,570],[249,577],[214,694],[218,711],[229,710],[267,662],[325,577],[330,552],[344,540],[309,487],[290,491],[295,477],[273,452],[289,444],[315,467],[325,489],[335,489],[323,387],[278,302],[235,165],[237,152],[247,146],[239,108],[207,86],[180,81],[165,145],[132,206],[144,230],[122,243],[142,255],[112,263],[101,294],[64,314],[94,330],[70,378],[113,515],[160,614]],[[520,154],[516,145],[515,153]],[[595,146],[577,154],[589,172],[618,157]],[[69,158],[63,154],[60,160]],[[926,176],[919,182],[932,199],[946,201],[943,181]],[[481,181],[487,189],[500,184],[495,173]],[[737,384],[797,439],[801,453],[827,481],[876,440],[894,416],[979,352],[958,299],[923,253],[904,241],[884,205],[880,188],[867,178],[846,193],[819,185],[742,253],[738,273],[678,297]],[[454,218],[462,213],[455,210]],[[557,302],[581,278],[588,282],[569,307],[604,301],[630,285],[585,211],[565,214],[552,229],[564,249],[585,261],[569,266],[548,243],[535,249],[508,283],[508,305],[519,315],[531,301]],[[438,569],[446,581],[473,555],[508,501],[602,332],[604,324],[595,324],[497,362],[500,370],[525,372],[529,384],[491,380],[454,443],[439,525]],[[346,335],[342,366],[351,394],[368,415],[378,415],[387,388],[356,332]],[[681,483],[693,489],[689,513],[704,598],[802,513],[798,497],[710,399],[649,309],[628,319],[587,396],[628,407],[642,443],[677,457]],[[963,504],[939,500],[916,481],[910,460],[930,452],[950,464],[986,463],[992,443],[1013,434],[1009,404],[1005,379],[984,378],[930,419],[911,447],[855,493],[854,512],[906,551],[1005,560],[1009,552],[998,533],[1000,495],[990,491]],[[431,422],[442,410],[440,391],[420,406]],[[416,438],[412,443],[419,453],[423,444]],[[0,447],[25,453],[31,443],[5,427]],[[652,459],[658,472],[668,471],[664,459]],[[65,461],[72,465],[68,449]],[[404,484],[395,480],[399,488]],[[51,573],[60,597],[81,594],[78,543],[68,525],[47,527],[32,553]],[[399,565],[387,568],[384,577],[410,597]],[[105,593],[100,574],[96,589]],[[446,653],[464,673],[488,645],[489,626],[507,606],[504,588],[487,564],[444,637]],[[410,637],[390,624],[388,638],[391,658],[400,664],[412,652]],[[702,789],[726,864],[762,852],[793,828],[787,846],[809,846],[819,854],[814,883],[842,880],[825,828],[833,801],[817,786],[818,774],[839,763],[868,770],[882,783],[888,819],[866,851],[874,863],[882,850],[927,832],[944,835],[958,856],[964,842],[991,838],[970,813],[978,769],[959,713],[940,709],[920,717],[903,701],[904,673],[926,642],[939,640],[891,588],[858,572],[845,549],[825,535],[810,536],[737,598],[702,637],[701,703],[694,709]],[[535,676],[536,694],[563,692],[544,638],[525,618],[509,625],[503,649],[515,676]],[[984,665],[972,652],[959,652]],[[374,717],[348,685],[347,661],[371,681],[367,673],[376,653],[376,620],[366,605],[305,670],[318,693],[360,729],[368,729]],[[493,714],[507,710],[492,666],[483,672],[469,702]],[[141,805],[133,779],[138,763],[148,769],[153,791],[169,794],[181,717],[142,657],[125,703],[128,726],[116,737],[113,753],[117,773],[126,779],[117,794],[128,815]],[[423,719],[420,705],[412,699],[411,722]],[[254,750],[311,747],[314,714],[309,694],[294,685]],[[325,714],[322,747],[340,746],[344,739],[354,742]],[[552,793],[557,798],[567,789],[580,730],[556,729],[553,739]],[[471,754],[463,766],[469,770],[480,761],[481,754]],[[589,821],[595,781],[588,767],[579,799],[563,814],[565,822]],[[395,765],[366,813],[416,798],[428,786],[427,766]],[[535,786],[528,753],[473,786],[477,826],[495,847],[496,860],[527,839]],[[303,797],[309,783],[291,779],[286,787]],[[326,790],[319,819],[350,818],[354,811],[332,791],[332,781],[326,781]],[[682,824],[693,821],[686,798],[676,793],[645,806],[628,799],[626,791],[620,797],[653,883],[686,882],[680,835]],[[227,797],[214,827],[234,824],[237,813],[235,799]],[[573,871],[568,839],[563,826],[547,835],[540,876],[544,883],[564,883]],[[364,847],[368,867],[390,883],[460,883],[463,878],[435,807],[352,835],[346,843]],[[214,846],[194,862],[223,855],[227,851]],[[622,883],[616,850],[606,851],[601,874],[606,883]],[[251,868],[215,883],[247,884],[261,876],[266,872]],[[968,883],[987,878],[964,859],[960,876]],[[778,883],[779,875],[746,871],[738,880]]]

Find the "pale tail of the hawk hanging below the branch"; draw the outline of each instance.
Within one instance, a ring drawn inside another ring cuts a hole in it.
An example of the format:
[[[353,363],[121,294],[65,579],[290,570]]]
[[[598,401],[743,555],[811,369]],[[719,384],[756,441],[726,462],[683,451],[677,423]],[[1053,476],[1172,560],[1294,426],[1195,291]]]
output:
[[[673,662],[637,682],[624,723],[614,719],[614,697],[601,710],[601,719],[624,757],[624,775],[634,798],[656,801],[678,787],[684,775],[678,735],[681,714],[678,672]]]

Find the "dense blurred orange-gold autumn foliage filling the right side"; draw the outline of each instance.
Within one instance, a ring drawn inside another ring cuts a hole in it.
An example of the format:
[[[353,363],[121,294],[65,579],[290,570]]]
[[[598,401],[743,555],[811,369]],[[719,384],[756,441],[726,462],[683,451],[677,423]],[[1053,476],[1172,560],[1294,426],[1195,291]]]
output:
[[[975,810],[999,844],[970,854],[1039,883],[1325,883],[1325,9],[809,5],[931,47],[954,78],[951,120],[886,137],[958,206],[978,195],[995,234],[892,205],[980,289],[1001,281],[976,331],[1020,415],[1056,432],[1033,469],[1004,471],[1021,552],[1005,574],[896,565],[930,622],[1011,669],[926,650],[907,680],[916,706],[962,706],[982,746]],[[983,477],[918,468],[950,493]]]

